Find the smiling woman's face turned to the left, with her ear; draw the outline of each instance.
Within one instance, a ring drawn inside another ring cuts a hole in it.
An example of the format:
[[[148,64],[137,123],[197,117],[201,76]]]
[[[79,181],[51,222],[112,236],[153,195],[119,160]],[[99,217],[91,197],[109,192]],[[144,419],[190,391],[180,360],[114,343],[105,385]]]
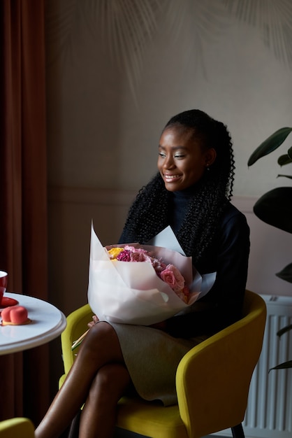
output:
[[[157,167],[166,190],[175,192],[194,185],[216,158],[213,148],[203,151],[191,129],[166,128],[159,141]]]

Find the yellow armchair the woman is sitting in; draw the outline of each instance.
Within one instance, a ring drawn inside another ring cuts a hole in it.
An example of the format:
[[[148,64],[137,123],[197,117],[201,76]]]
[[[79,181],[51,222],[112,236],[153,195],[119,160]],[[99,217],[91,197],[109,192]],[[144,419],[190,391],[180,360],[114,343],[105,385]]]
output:
[[[87,330],[92,310],[86,304],[67,318],[61,334],[65,374],[75,353],[71,345]],[[233,438],[244,438],[242,421],[249,384],[261,353],[266,307],[247,290],[241,320],[191,349],[177,367],[178,404],[163,407],[139,397],[119,401],[117,427],[152,438],[200,438],[231,428]]]

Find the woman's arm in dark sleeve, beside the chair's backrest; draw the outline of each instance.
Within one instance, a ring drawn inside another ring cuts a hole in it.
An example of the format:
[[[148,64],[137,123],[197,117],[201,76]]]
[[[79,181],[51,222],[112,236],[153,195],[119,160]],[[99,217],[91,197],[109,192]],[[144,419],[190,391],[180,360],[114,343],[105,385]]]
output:
[[[170,318],[166,331],[175,337],[195,337],[213,334],[240,319],[248,258],[249,227],[245,216],[235,209],[224,218],[208,251],[208,260],[201,264],[202,269],[209,265],[217,272],[212,289],[194,304],[194,312]]]

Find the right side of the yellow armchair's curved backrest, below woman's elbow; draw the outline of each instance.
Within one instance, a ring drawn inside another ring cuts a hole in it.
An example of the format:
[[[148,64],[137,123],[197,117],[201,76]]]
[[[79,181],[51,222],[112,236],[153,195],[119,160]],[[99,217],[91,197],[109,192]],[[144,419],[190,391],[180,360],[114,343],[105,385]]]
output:
[[[251,376],[261,354],[264,300],[247,290],[241,320],[187,353],[177,368],[180,416],[189,437],[242,423]]]

